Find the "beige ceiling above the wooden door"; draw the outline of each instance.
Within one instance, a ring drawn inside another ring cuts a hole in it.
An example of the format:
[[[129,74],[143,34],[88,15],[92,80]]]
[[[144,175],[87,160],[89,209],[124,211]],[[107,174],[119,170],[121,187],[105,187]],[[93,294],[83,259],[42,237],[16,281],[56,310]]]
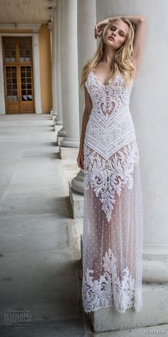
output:
[[[46,24],[52,21],[53,0],[0,0],[0,24]]]

